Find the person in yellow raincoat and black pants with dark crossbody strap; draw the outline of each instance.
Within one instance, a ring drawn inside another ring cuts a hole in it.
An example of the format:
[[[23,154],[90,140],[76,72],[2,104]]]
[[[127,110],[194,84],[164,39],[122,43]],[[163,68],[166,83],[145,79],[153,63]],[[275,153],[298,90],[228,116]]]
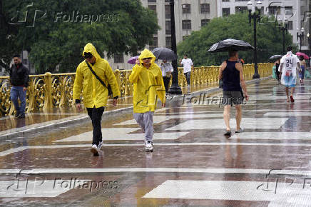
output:
[[[97,53],[93,44],[88,43],[84,46],[82,56],[86,59],[81,62],[76,69],[76,79],[73,84],[73,99],[76,100],[76,107],[81,111],[80,95],[83,91],[83,102],[88,116],[92,120],[93,126],[93,142],[91,152],[94,156],[98,156],[99,149],[103,145],[101,134],[101,116],[103,115],[104,107],[108,101],[108,89],[106,86],[111,85],[113,92],[113,106],[116,106],[120,90],[108,61],[102,59]],[[99,79],[106,86],[101,84],[91,69],[96,73]]]

